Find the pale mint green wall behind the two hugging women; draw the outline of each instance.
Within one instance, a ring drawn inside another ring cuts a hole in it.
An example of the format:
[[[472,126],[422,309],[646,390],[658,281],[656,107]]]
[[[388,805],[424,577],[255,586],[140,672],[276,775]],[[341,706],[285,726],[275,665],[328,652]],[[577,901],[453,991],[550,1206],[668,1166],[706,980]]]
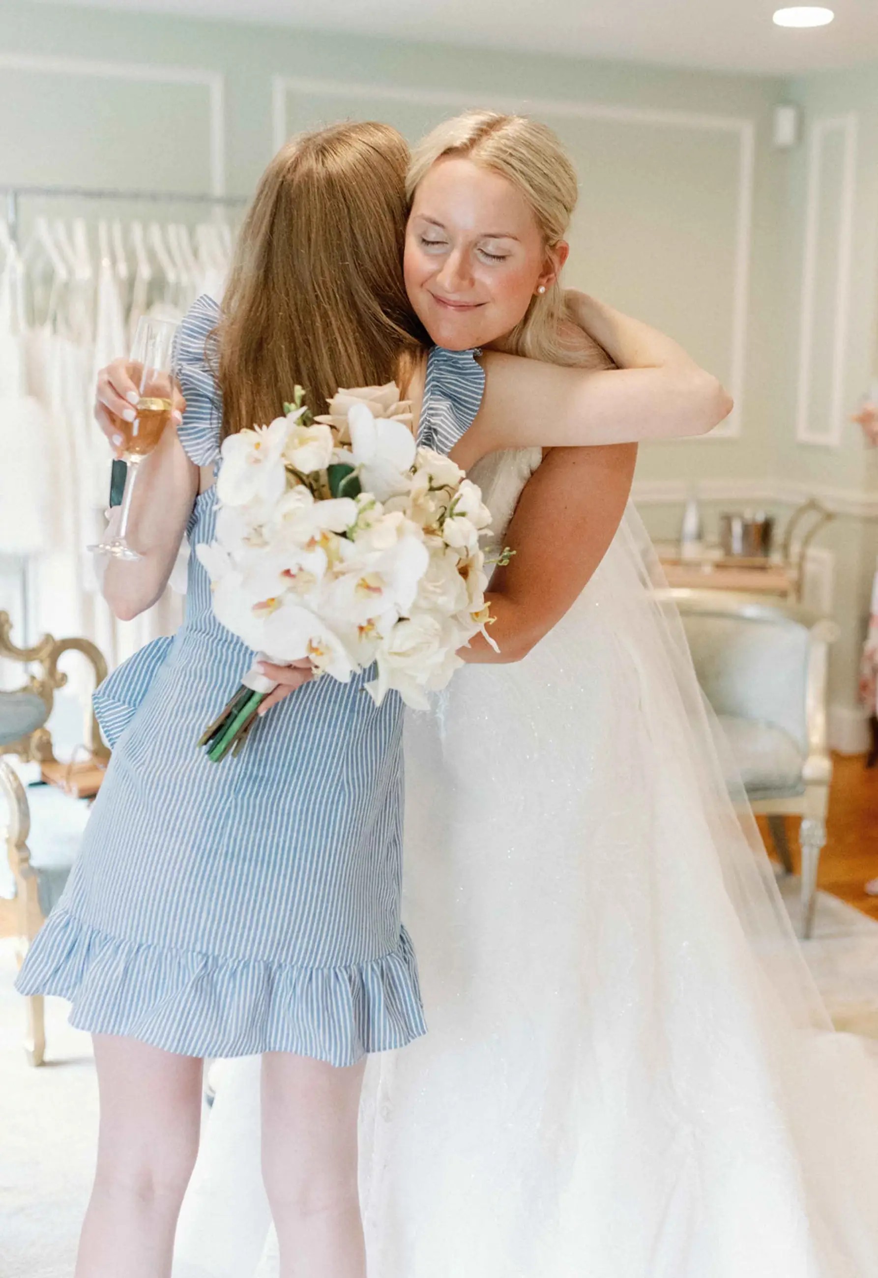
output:
[[[52,58],[60,61],[28,64]],[[73,74],[70,64],[86,74]],[[106,74],[120,64],[137,64],[141,78]],[[197,83],[188,82],[189,72]],[[142,78],[150,74],[158,78]],[[277,75],[311,83],[281,92],[272,84]],[[415,137],[465,105],[530,109],[557,129],[580,173],[571,282],[667,328],[727,383],[736,322],[746,321],[740,435],[643,450],[638,481],[652,502],[643,506],[647,521],[657,533],[674,532],[689,478],[732,507],[753,505],[748,493],[762,484],[781,512],[810,486],[878,496],[878,459],[866,458],[856,428],[843,432],[838,447],[796,441],[808,150],[771,144],[780,101],[800,102],[809,127],[838,111],[859,112],[845,360],[850,409],[877,341],[873,81],[868,68],[787,82],[8,0],[0,9],[0,181],[207,190],[224,180],[229,192],[247,193],[282,129],[371,115]],[[743,162],[750,130],[751,169]],[[815,252],[810,390],[818,424],[831,392],[826,313],[837,280],[843,211],[832,193],[842,161],[832,135]],[[750,178],[741,258],[739,201]],[[736,317],[741,267],[748,288]],[[845,516],[824,544],[837,556],[836,615],[845,633],[832,697],[851,708],[873,525]]]

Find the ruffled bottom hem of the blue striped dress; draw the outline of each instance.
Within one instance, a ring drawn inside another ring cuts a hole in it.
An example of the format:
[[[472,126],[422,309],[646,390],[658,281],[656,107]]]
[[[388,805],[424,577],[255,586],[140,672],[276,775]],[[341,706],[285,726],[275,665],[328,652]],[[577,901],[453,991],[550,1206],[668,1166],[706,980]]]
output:
[[[369,962],[307,967],[121,941],[56,909],[15,988],[73,1005],[70,1024],[180,1056],[294,1052],[354,1065],[426,1033],[412,941]]]

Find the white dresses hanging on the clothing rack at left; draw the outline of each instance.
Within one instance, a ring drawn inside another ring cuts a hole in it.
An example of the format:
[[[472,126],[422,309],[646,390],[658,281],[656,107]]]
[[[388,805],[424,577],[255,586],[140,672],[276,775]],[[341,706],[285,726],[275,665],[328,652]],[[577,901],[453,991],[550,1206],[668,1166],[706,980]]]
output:
[[[74,472],[77,477],[75,483],[66,482],[70,491],[64,501],[51,502],[54,509],[72,507],[63,537],[60,524],[52,525],[51,535],[46,533],[42,550],[28,550],[23,544],[27,537],[17,543],[0,537],[0,593],[12,589],[18,596],[19,633],[31,640],[43,629],[84,634],[114,662],[128,647],[152,638],[150,619],[139,629],[138,622],[116,624],[82,585],[89,575],[88,566],[82,566],[82,547],[95,539],[89,511],[93,507],[95,519],[102,519],[109,477],[105,441],[91,422],[93,369],[129,349],[139,313],[176,318],[199,291],[221,293],[234,229],[247,203],[245,196],[0,183],[0,277],[5,277],[0,279],[0,327],[12,325],[13,330],[0,332],[0,344],[10,351],[3,367],[20,369],[15,394],[22,412],[36,413],[37,401],[45,409],[42,423],[32,423],[33,440],[38,431],[45,436],[46,422],[56,424],[59,438],[41,450],[35,442],[35,454],[47,455],[49,468],[63,479]],[[137,221],[138,206],[143,213],[148,210],[146,224]],[[14,313],[12,320],[8,312]],[[38,385],[32,385],[32,374]],[[5,428],[20,435],[10,412],[6,403]],[[77,466],[68,464],[69,459],[61,461],[63,447],[75,454]],[[22,465],[26,478],[37,474],[36,461]],[[10,484],[8,474],[6,487]],[[47,486],[52,493],[55,487]],[[22,484],[15,488],[27,491]],[[24,506],[24,514],[32,515],[31,527],[37,525],[36,502]],[[83,506],[88,509],[83,511]],[[6,507],[9,524],[12,504]],[[20,530],[18,514],[15,523]],[[98,532],[100,527],[95,524]],[[65,547],[66,571],[60,566]],[[54,575],[45,569],[49,551],[55,552]],[[56,607],[46,608],[52,599]],[[77,599],[83,601],[79,615]],[[125,644],[119,639],[123,630],[132,631]]]

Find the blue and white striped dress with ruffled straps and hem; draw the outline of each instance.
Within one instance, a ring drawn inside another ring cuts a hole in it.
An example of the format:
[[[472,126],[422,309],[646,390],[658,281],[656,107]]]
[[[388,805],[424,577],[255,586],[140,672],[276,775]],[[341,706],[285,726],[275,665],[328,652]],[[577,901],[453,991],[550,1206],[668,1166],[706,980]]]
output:
[[[221,406],[206,359],[219,308],[178,339],[179,435],[216,460]],[[422,437],[447,450],[483,390],[472,351],[431,353]],[[188,535],[210,542],[216,491]],[[185,1056],[282,1051],[351,1065],[424,1033],[400,923],[403,703],[368,675],[308,684],[259,720],[238,758],[196,743],[252,652],[213,617],[193,555],[184,624],[95,694],[112,746],[66,889],[17,985],[70,999],[79,1029]]]

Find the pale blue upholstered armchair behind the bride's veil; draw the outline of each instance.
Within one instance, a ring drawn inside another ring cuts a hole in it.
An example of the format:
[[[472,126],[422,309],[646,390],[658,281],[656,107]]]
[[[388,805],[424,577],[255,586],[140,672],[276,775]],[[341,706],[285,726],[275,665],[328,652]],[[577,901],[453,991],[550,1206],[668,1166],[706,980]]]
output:
[[[800,818],[800,934],[806,938],[832,782],[827,670],[838,627],[801,604],[766,596],[676,588],[659,597],[680,611],[698,681],[787,873],[785,818]]]

